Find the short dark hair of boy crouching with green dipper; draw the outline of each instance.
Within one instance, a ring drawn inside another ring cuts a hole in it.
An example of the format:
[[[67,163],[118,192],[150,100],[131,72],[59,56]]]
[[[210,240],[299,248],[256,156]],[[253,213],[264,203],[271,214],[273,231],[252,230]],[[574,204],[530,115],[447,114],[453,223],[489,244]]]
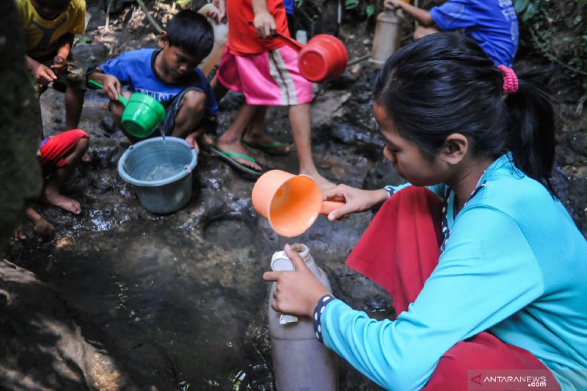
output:
[[[214,30],[205,16],[184,9],[167,23],[169,45],[179,47],[199,59],[204,59],[214,46]]]

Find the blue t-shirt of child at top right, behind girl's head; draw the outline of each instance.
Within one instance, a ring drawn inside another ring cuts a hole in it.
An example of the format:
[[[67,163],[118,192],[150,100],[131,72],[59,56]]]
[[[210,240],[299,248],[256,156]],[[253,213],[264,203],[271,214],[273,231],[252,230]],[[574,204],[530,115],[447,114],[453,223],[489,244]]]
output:
[[[443,31],[464,29],[495,65],[508,67],[518,50],[518,18],[511,0],[450,0],[430,10]]]

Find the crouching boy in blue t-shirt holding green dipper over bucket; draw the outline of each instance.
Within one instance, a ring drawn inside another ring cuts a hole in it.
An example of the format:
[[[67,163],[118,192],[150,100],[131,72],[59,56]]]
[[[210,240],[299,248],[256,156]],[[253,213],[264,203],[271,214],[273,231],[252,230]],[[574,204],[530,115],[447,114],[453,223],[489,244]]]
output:
[[[148,94],[166,107],[160,127],[164,135],[185,138],[198,147],[198,138],[215,130],[218,105],[210,83],[198,64],[214,45],[214,32],[207,19],[195,11],[184,10],[169,21],[159,37],[159,50],[139,49],[122,53],[89,73],[89,79],[103,84],[111,100],[114,120],[129,140],[136,137],[124,131],[120,118],[124,106],[118,95],[133,92]],[[122,92],[128,86],[129,91]]]

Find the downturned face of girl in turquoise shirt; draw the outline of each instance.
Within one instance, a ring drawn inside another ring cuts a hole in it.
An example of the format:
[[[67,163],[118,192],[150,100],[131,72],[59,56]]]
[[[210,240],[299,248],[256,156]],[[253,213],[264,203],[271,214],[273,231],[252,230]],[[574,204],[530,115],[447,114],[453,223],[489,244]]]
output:
[[[438,157],[430,159],[424,156],[416,144],[400,136],[382,106],[374,103],[373,111],[386,140],[383,155],[393,163],[397,174],[416,186],[436,185],[446,179],[446,162]]]

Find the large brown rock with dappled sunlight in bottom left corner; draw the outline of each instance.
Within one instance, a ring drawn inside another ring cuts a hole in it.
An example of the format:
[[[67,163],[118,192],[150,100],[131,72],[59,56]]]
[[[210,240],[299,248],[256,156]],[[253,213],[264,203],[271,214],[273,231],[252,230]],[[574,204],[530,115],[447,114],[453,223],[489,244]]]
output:
[[[85,340],[72,312],[31,272],[0,261],[0,299],[0,388],[139,389],[106,350]]]

